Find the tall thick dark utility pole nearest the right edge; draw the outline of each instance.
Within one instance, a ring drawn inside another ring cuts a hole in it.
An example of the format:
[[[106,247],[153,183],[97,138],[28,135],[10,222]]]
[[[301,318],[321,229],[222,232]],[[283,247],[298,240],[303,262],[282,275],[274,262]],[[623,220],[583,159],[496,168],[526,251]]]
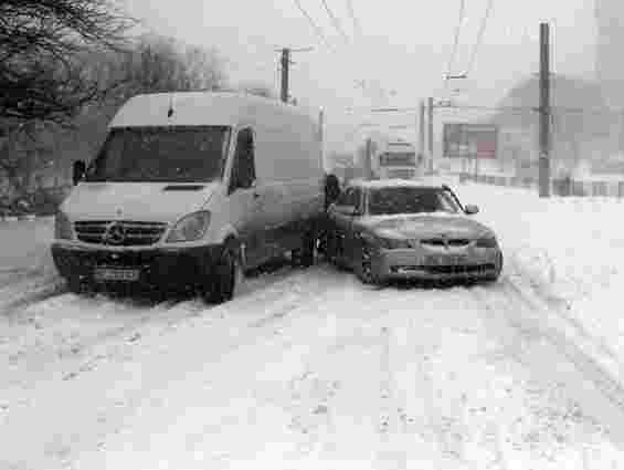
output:
[[[549,24],[540,23],[540,156],[539,197],[550,197],[550,40]]]

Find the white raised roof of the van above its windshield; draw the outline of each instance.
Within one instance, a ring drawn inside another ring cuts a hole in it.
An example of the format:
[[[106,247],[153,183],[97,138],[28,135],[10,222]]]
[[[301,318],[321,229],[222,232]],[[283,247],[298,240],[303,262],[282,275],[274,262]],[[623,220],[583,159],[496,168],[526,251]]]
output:
[[[169,109],[173,113],[169,116]],[[287,105],[277,100],[233,92],[154,93],[131,97],[115,115],[109,127],[130,126],[233,126],[260,113],[318,116],[304,106]]]

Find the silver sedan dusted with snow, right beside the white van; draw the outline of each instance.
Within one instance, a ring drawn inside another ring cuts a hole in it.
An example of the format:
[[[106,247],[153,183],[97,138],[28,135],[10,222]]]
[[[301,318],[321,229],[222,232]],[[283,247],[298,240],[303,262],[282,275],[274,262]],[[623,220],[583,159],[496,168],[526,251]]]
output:
[[[503,252],[446,185],[414,180],[350,184],[328,212],[327,258],[364,283],[392,279],[496,281]]]

